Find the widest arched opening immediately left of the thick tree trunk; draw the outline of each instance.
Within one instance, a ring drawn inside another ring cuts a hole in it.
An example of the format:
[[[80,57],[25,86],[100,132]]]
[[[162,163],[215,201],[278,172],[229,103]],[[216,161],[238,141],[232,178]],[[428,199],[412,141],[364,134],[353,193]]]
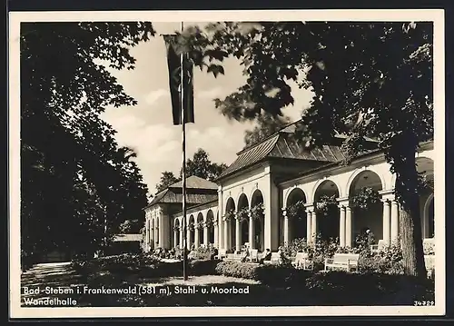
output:
[[[382,189],[380,176],[370,170],[358,173],[352,180],[349,198],[353,242],[367,229],[375,242],[383,239],[383,203],[379,195]]]

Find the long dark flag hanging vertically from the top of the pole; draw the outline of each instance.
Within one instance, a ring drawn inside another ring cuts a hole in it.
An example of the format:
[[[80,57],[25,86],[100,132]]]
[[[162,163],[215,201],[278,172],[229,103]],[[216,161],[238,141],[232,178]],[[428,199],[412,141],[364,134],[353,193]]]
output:
[[[173,124],[182,124],[182,100],[180,85],[182,82],[181,56],[175,51],[176,35],[164,35],[167,47],[167,67],[169,70],[169,86],[172,98]],[[184,123],[194,122],[194,96],[192,83],[192,61],[189,54],[183,54],[183,109]]]

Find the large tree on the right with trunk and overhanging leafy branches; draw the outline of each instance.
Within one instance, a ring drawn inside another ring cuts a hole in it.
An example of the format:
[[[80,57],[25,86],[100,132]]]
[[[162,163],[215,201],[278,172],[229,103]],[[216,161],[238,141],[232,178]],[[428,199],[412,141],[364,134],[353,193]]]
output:
[[[378,140],[396,173],[405,273],[424,277],[415,153],[433,138],[432,34],[427,22],[216,23],[188,28],[179,40],[207,72],[222,74],[229,55],[244,65],[246,84],[215,100],[222,114],[279,116],[293,104],[292,80],[314,93],[299,124],[301,143],[319,146],[344,133],[352,158],[365,136]]]

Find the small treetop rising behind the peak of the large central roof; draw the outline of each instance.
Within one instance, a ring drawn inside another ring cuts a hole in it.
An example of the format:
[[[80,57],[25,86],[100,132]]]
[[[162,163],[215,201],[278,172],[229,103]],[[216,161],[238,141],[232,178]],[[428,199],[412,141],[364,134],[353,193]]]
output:
[[[290,119],[288,117],[273,117],[270,114],[259,115],[257,117],[257,125],[252,130],[247,130],[244,133],[244,148],[262,142],[262,140],[281,130],[289,123]]]

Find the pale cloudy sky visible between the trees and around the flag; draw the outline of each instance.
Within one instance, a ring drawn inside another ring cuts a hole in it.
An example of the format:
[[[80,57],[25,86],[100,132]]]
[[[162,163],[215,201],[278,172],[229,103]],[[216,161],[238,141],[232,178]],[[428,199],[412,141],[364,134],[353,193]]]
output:
[[[135,162],[151,194],[156,193],[155,185],[164,171],[178,176],[183,163],[182,126],[173,125],[165,44],[160,36],[178,30],[180,23],[154,23],[153,27],[157,32],[155,37],[131,49],[136,59],[135,69],[111,70],[126,94],[133,96],[138,104],[108,108],[102,115],[117,131],[117,143],[137,153]],[[254,124],[230,121],[214,107],[214,98],[223,99],[232,94],[246,80],[236,58],[224,60],[223,66],[225,74],[216,78],[212,73],[194,69],[195,123],[186,124],[186,158],[202,148],[213,163],[230,165],[244,146],[244,132]],[[293,122],[301,118],[312,94],[295,84],[291,84],[291,89],[295,104],[282,112]]]

